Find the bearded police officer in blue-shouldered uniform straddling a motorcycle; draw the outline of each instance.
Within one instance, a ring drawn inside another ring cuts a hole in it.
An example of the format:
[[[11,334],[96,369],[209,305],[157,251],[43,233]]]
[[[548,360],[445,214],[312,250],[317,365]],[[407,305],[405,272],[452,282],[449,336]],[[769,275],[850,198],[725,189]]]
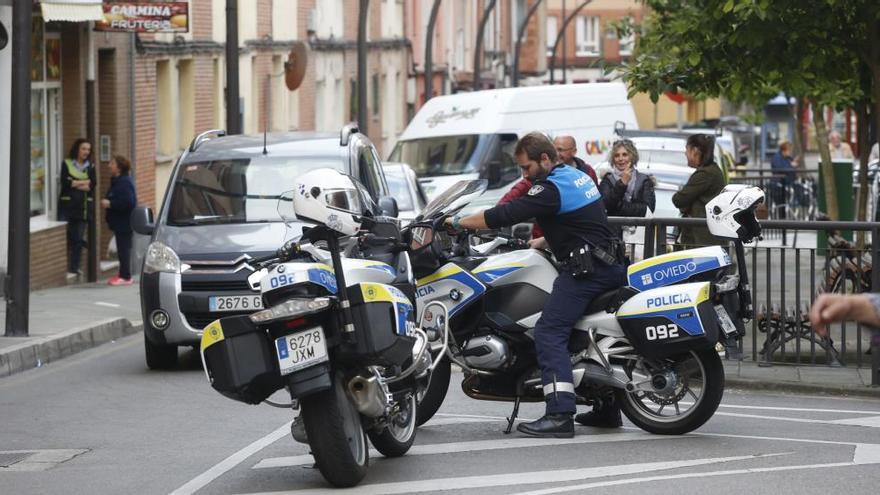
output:
[[[523,136],[515,155],[523,177],[532,181],[529,192],[480,213],[447,219],[447,225],[454,230],[495,229],[535,218],[543,229],[547,245],[563,265],[535,326],[546,414],[521,423],[517,430],[532,436],[570,438],[575,412],[568,353],[571,329],[594,297],[626,284],[625,270],[610,254],[615,252],[614,234],[590,177],[573,167],[556,165],[553,143],[538,132]]]

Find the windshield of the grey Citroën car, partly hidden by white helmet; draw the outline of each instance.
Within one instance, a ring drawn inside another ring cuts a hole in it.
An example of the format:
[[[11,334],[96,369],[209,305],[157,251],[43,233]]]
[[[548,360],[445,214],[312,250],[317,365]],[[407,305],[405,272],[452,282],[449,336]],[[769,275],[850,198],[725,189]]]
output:
[[[186,163],[173,184],[168,224],[280,222],[278,199],[297,176],[316,168],[342,170],[342,159],[258,157]]]

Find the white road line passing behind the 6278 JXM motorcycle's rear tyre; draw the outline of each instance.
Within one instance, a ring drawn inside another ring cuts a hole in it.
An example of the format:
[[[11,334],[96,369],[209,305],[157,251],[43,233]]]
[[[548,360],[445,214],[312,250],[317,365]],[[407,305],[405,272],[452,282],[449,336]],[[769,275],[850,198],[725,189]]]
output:
[[[581,435],[574,438],[530,438],[513,437],[498,440],[475,440],[471,442],[448,442],[432,443],[427,445],[415,445],[406,453],[407,457],[416,455],[454,454],[459,452],[485,452],[489,450],[522,449],[527,447],[557,447],[562,445],[582,445],[588,443],[612,443],[633,442],[643,440],[672,440],[685,439],[687,436],[664,437],[651,435],[644,432],[635,433],[601,433],[593,435]],[[376,450],[370,450],[371,456],[381,456]],[[306,466],[314,463],[311,455],[298,455],[289,457],[271,457],[258,462],[253,469],[281,468],[292,466]]]

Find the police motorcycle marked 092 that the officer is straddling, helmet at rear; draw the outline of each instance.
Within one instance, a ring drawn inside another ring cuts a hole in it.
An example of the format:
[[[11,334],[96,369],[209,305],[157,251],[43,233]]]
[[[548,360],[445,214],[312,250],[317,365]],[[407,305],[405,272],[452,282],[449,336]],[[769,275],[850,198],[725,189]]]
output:
[[[474,249],[466,234],[451,239],[438,228],[484,188],[456,184],[409,226],[419,318],[443,318],[426,307],[442,302],[450,329],[448,359],[420,398],[418,421],[442,404],[455,363],[466,395],[514,403],[509,433],[520,402],[544,401],[533,332],[559,265],[535,249],[487,255],[492,245]],[[630,265],[627,286],[585,308],[569,342],[579,404],[614,398],[638,427],[670,435],[715,413],[724,392],[715,345],[736,345],[752,317],[743,243],[760,236],[754,210],[763,201],[756,187],[727,186],[707,205],[709,228],[734,242],[735,262],[720,246],[655,256]]]

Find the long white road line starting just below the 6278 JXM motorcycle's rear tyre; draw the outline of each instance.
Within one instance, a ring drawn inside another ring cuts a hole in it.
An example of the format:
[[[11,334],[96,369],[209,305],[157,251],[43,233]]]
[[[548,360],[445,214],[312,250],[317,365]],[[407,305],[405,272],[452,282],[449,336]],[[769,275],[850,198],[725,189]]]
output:
[[[558,440],[557,440],[558,441]],[[647,462],[638,464],[624,464],[620,466],[601,466],[582,469],[560,469],[550,471],[532,471],[526,473],[507,473],[495,475],[478,475],[457,478],[439,478],[420,481],[401,481],[392,483],[376,483],[372,485],[358,485],[352,491],[359,495],[372,494],[399,494],[438,492],[446,490],[469,490],[475,488],[492,488],[500,486],[517,486],[536,483],[564,483],[579,481],[590,478],[604,478],[607,476],[621,476],[627,474],[643,473],[645,471],[665,471],[684,467],[702,466],[733,461],[743,461],[768,457],[770,455],[785,454],[757,454],[734,457],[712,457],[706,459],[691,459],[683,461]],[[325,494],[337,493],[333,488],[316,488],[305,490],[291,490],[284,492],[265,492],[251,495],[281,495],[281,494]]]

